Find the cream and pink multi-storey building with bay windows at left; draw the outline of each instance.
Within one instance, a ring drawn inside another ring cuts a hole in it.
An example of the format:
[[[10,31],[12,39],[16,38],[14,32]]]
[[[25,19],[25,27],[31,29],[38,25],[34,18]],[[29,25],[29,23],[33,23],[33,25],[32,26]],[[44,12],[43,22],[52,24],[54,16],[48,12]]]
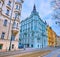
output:
[[[0,51],[17,50],[23,0],[0,0]]]

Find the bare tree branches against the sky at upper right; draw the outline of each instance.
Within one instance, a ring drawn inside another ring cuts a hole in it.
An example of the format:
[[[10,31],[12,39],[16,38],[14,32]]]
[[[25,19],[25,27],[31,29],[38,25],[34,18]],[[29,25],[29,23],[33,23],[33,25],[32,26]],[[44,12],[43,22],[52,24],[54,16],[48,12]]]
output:
[[[56,24],[60,24],[60,0],[52,0],[51,6],[53,8],[52,17],[56,20]]]

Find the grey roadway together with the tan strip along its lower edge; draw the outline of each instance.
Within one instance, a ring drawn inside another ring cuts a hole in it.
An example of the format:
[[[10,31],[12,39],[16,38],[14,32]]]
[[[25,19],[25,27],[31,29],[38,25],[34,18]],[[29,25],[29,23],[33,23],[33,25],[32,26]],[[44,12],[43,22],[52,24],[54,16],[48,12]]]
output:
[[[17,50],[17,51],[9,51],[9,52],[0,52],[0,57],[35,57],[34,55],[36,56],[40,56],[40,54],[42,55],[46,55],[48,54],[49,52],[53,51],[53,50],[56,50],[57,48],[42,48],[42,49],[34,49],[34,48],[26,48],[25,50],[24,49],[21,49],[21,50]],[[27,55],[28,54],[28,55]],[[27,56],[26,56],[27,55]],[[31,56],[30,56],[31,55]]]

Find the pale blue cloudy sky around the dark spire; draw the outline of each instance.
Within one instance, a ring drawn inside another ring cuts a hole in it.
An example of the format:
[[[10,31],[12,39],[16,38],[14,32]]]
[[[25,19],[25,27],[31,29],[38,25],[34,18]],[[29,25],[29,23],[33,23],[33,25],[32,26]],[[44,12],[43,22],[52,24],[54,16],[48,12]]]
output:
[[[30,16],[35,4],[40,18],[43,21],[46,21],[47,24],[56,32],[56,34],[60,36],[60,27],[55,24],[55,19],[52,18],[53,9],[50,3],[51,0],[24,0],[22,5],[21,20],[24,20]]]

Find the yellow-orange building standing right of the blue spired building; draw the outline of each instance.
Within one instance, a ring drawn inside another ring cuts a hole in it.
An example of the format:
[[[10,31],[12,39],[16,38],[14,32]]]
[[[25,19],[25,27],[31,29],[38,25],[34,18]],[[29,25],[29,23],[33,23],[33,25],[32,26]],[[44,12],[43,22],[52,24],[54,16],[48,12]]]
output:
[[[49,26],[47,26],[47,32],[48,32],[48,46],[55,47],[56,46],[56,33]]]

